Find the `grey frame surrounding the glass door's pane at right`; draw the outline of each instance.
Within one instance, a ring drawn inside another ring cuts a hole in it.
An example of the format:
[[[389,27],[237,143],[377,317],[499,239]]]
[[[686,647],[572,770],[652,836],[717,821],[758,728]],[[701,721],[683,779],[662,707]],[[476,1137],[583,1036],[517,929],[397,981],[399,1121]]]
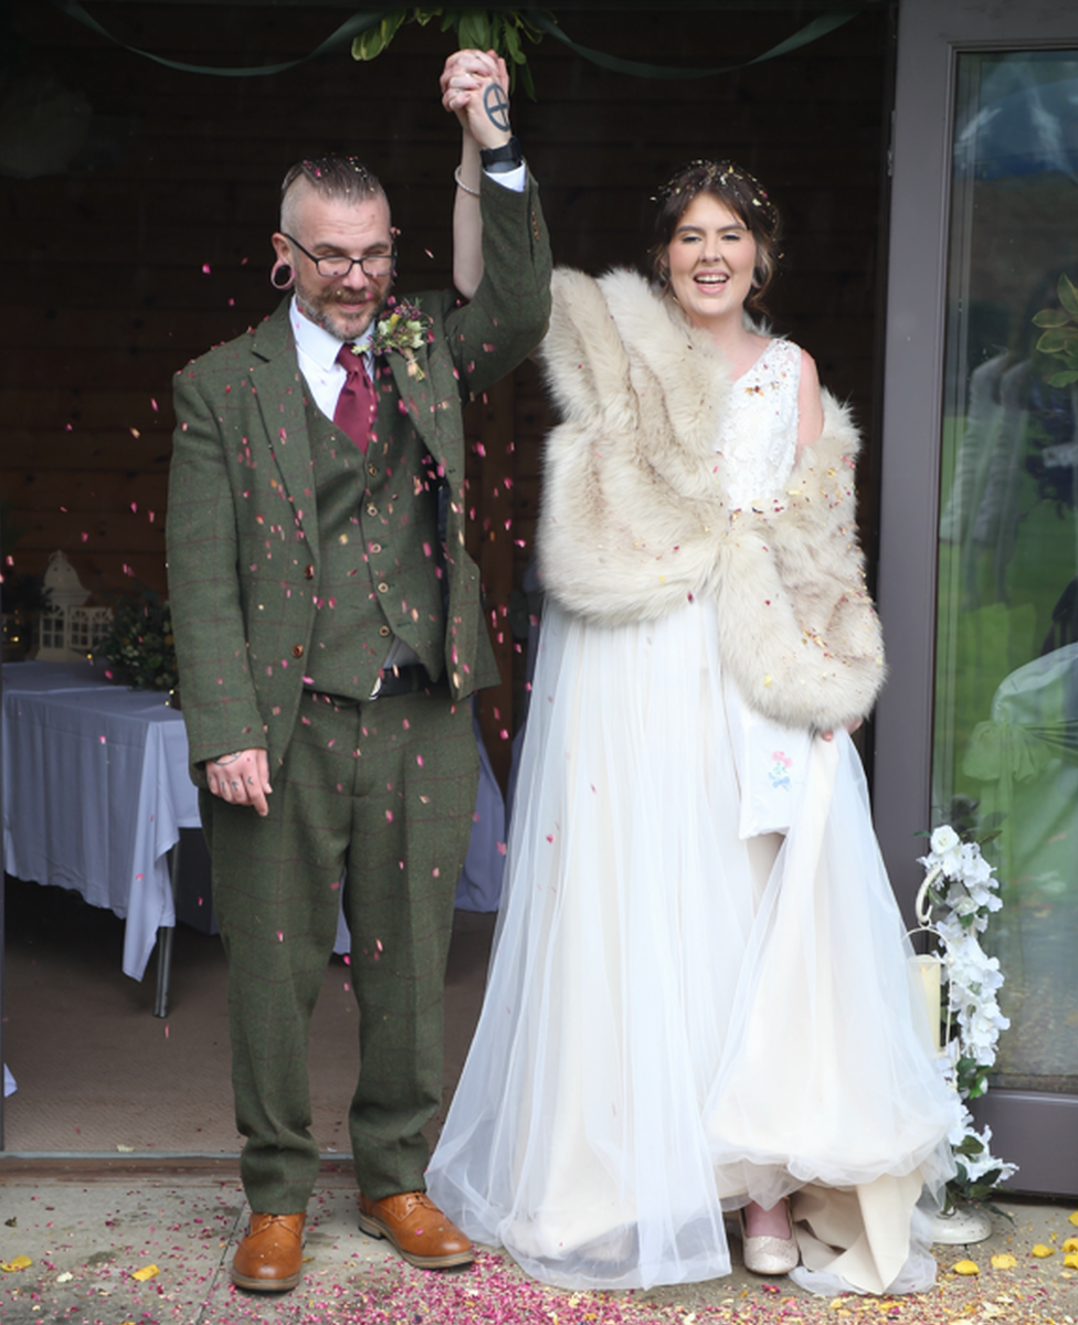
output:
[[[907,916],[931,828],[940,432],[957,56],[1078,49],[1058,0],[902,0],[892,139],[878,599],[890,678],[875,721],[875,823]],[[919,843],[922,843],[919,845]],[[989,1090],[975,1109],[1014,1191],[1078,1192],[1078,1097]],[[1067,1158],[1069,1157],[1069,1158]]]

